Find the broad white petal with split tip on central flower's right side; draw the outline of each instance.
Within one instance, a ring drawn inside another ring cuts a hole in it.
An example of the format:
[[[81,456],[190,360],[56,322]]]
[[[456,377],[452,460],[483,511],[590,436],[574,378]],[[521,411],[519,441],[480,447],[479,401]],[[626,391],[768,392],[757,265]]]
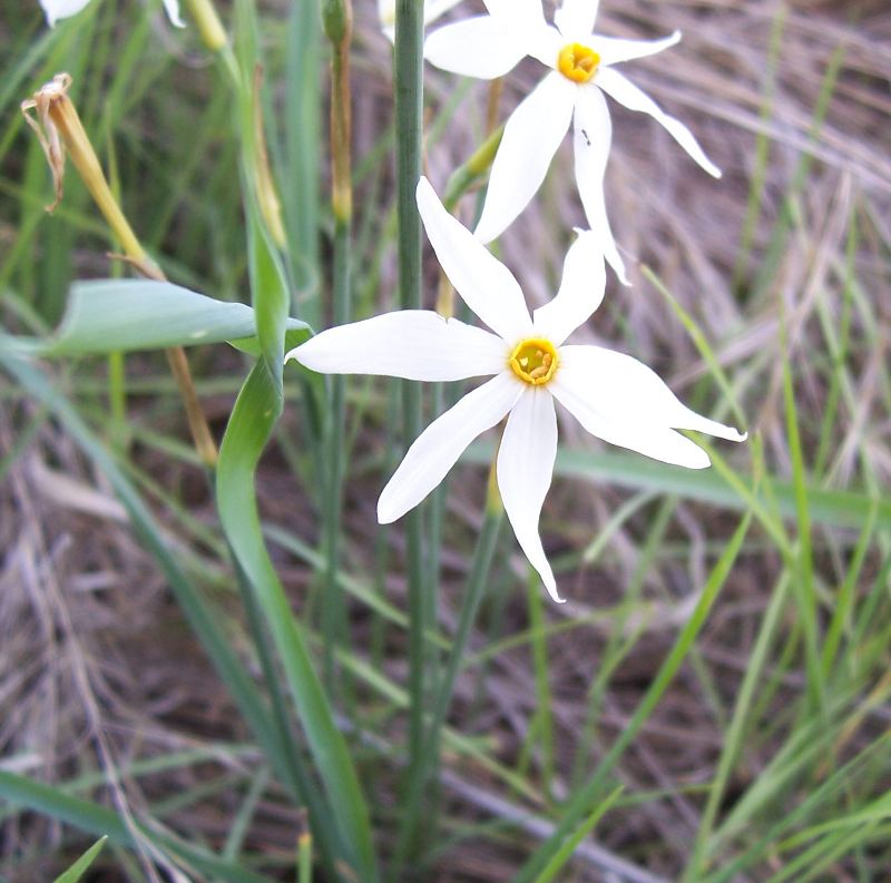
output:
[[[561,346],[548,389],[593,435],[666,463],[704,469],[708,455],[673,429],[730,441],[746,435],[682,404],[659,376],[629,355],[600,346]]]

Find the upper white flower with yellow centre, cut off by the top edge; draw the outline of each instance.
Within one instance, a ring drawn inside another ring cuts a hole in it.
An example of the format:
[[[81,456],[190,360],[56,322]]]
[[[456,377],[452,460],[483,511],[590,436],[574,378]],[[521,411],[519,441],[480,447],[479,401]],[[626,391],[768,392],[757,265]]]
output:
[[[721,176],[691,130],[614,67],[667,49],[681,33],[654,41],[597,36],[598,0],[564,0],[555,14],[556,27],[545,21],[540,0],[486,0],[486,6],[488,16],[433,31],[424,43],[428,61],[481,79],[507,73],[526,56],[552,70],[508,119],[477,236],[484,243],[495,239],[522,212],[572,121],[576,180],[588,224],[599,234],[607,262],[627,284],[604,199],[613,137],[604,92],[631,110],[649,114],[706,171]]]

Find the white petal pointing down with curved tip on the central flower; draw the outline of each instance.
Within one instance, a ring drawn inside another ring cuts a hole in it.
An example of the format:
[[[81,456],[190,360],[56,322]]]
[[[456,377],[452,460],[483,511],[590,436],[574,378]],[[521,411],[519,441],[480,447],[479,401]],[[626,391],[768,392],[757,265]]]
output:
[[[541,506],[550,488],[556,457],[554,399],[545,389],[527,386],[510,412],[498,449],[498,489],[517,542],[539,572],[550,597],[562,601],[538,533]]]

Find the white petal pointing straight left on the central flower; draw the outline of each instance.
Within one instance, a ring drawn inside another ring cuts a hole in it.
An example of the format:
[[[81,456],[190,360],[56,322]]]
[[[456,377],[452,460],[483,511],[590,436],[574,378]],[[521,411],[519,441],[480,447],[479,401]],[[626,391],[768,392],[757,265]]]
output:
[[[498,374],[508,350],[500,337],[457,318],[403,310],[323,331],[288,359],[322,374],[447,381]]]

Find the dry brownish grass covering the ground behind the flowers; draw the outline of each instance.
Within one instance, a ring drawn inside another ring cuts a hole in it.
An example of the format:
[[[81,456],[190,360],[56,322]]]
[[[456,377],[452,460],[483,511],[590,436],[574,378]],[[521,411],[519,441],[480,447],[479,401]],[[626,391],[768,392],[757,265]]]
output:
[[[383,116],[389,88],[388,47],[374,31],[372,10],[366,8],[371,4],[359,6],[361,36],[354,65],[361,73],[355,84],[355,119],[358,151],[364,153],[389,121]],[[852,352],[848,360],[855,410],[843,406],[840,412],[831,445],[835,457],[825,478],[839,488],[858,485],[865,462],[878,485],[888,487],[891,11],[881,0],[786,4],[775,87],[770,111],[765,112],[770,35],[780,9],[773,0],[604,3],[601,29],[608,33],[639,37],[674,28],[684,31],[684,42],[670,53],[635,66],[636,81],[691,124],[725,169],[725,177],[716,183],[699,173],[655,124],[615,112],[615,149],[609,167],[611,218],[616,237],[634,267],[634,287],[614,286],[587,333],[593,341],[635,352],[669,379],[679,393],[695,398],[696,381],[705,373],[702,360],[636,263],[654,268],[705,331],[719,363],[734,377],[751,429],[764,438],[772,471],[787,478],[791,454],[782,402],[780,304],[789,320],[805,445],[813,453],[820,442],[819,420],[828,395],[826,343],[821,323],[825,317],[838,322],[842,312],[849,219],[856,215],[856,278],[869,298],[875,326],[865,327],[863,315],[858,313],[852,337],[873,340],[877,346]],[[268,9],[271,20],[280,13],[275,4]],[[821,84],[840,48],[844,58],[838,85],[825,124],[814,136],[813,112]],[[533,76],[535,71],[523,68],[516,82],[523,88]],[[451,78],[430,72],[433,107],[447,101],[452,89]],[[480,100],[470,101],[467,107],[471,109],[462,112],[444,140],[430,149],[430,175],[440,187],[449,170],[467,157],[484,125],[484,89],[477,91]],[[501,99],[501,116],[515,102],[511,82]],[[757,173],[758,136],[770,138],[770,161],[752,258],[734,287],[747,196]],[[814,163],[806,179],[795,186],[803,151]],[[523,281],[527,293],[540,300],[554,290],[567,230],[581,222],[571,186],[569,145],[558,159],[549,187],[539,197],[542,210],[527,212],[503,242],[506,263]],[[787,205],[794,208],[795,223],[767,283],[760,284],[758,272],[775,241],[775,224]],[[371,210],[386,208],[389,198]],[[10,212],[3,209],[3,214]],[[391,258],[386,256],[382,301],[388,300],[386,284],[392,277]],[[429,293],[432,300],[432,285]],[[210,360],[207,367],[208,372],[213,370]],[[711,383],[704,390],[708,403],[718,395]],[[14,399],[14,392],[7,390],[0,402],[0,457],[12,450],[16,434],[37,416],[31,406]],[[225,411],[227,396],[215,401]],[[147,408],[150,405],[147,400]],[[134,405],[133,420],[137,423],[145,420],[140,406],[138,402]],[[151,411],[146,416],[151,420]],[[288,420],[293,422],[294,415]],[[578,433],[574,438],[570,426],[564,429],[572,445],[586,443]],[[361,453],[379,453],[378,429],[364,424],[358,443]],[[213,508],[197,470],[138,447],[134,458],[140,469],[190,509],[189,520],[213,524]],[[460,469],[461,475],[473,478],[454,480],[450,485],[440,611],[447,631],[453,625],[467,549],[480,511],[479,473],[469,467]],[[277,453],[267,458],[260,482],[268,520],[312,539],[312,507],[301,497]],[[379,484],[380,475],[372,472],[358,474],[349,488],[346,536],[352,572],[373,566],[370,523]],[[584,487],[580,492],[575,482],[558,482],[544,519],[549,548],[559,553],[587,547],[629,498],[629,493],[605,485]],[[726,541],[735,524],[714,509],[679,503],[666,524],[657,566],[639,575],[643,550],[659,508],[658,500],[643,504],[595,560],[574,562],[564,578],[570,604],[547,611],[552,621],[588,620],[588,625],[549,644],[556,757],[561,773],[557,782],[564,783],[559,787],[565,787],[568,762],[578,748],[586,696],[600,671],[605,648],[617,636],[636,638],[624,657],[616,655],[615,647],[610,650],[617,668],[604,686],[598,727],[587,746],[587,768],[627,725],[670,647],[677,625],[689,612],[691,599],[695,599],[692,592],[702,585],[714,550]],[[225,569],[216,555],[190,539],[189,531],[163,507],[157,511],[167,524],[172,547],[190,548],[193,567],[202,571],[208,592],[232,615],[232,640],[246,650],[237,600],[229,596]],[[390,539],[391,556],[398,561],[401,537],[396,532]],[[845,532],[825,541],[829,580],[834,572],[832,562],[850,552],[852,541]],[[0,768],[48,782],[97,769],[106,776],[121,771],[111,776],[112,784],[106,789],[109,803],[136,815],[151,805],[156,817],[160,817],[157,807],[164,806],[165,825],[219,844],[246,784],[262,767],[261,757],[251,747],[216,748],[218,743],[246,742],[244,726],[196,648],[150,557],[135,541],[114,494],[52,423],[42,423],[0,484]],[[501,570],[493,577],[492,596],[471,644],[474,651],[483,650],[498,636],[528,626],[526,604],[510,572],[522,573],[523,566],[513,547],[508,548],[510,557],[499,559]],[[278,552],[278,565],[295,604],[302,604],[311,568],[284,551]],[[875,571],[880,566],[877,555],[870,557],[866,570]],[[703,683],[694,668],[683,669],[618,769],[629,794],[665,789],[666,796],[610,813],[598,828],[597,842],[603,850],[667,880],[683,869],[702,810],[697,786],[714,776],[726,716],[782,567],[775,551],[757,543],[737,561],[698,644],[696,664],[709,673],[714,695],[704,699]],[[624,608],[617,606],[636,580],[642,604],[623,612]],[[393,604],[403,606],[400,578],[388,581],[388,592]],[[351,637],[360,656],[371,646],[372,632],[372,622],[358,610]],[[401,635],[384,635],[383,647],[383,670],[403,683]],[[523,749],[536,712],[529,656],[527,645],[506,649],[488,663],[486,677],[474,669],[459,684],[453,720],[463,734],[476,734],[493,746],[493,756],[509,766]],[[801,693],[803,675],[787,666],[772,665],[766,676],[774,671],[782,679],[774,697],[779,714],[789,697]],[[389,714],[379,699],[361,691],[360,699],[368,703],[369,715],[380,713],[380,737],[388,745],[400,744],[401,718]],[[765,714],[767,718],[770,714]],[[843,753],[853,755],[887,727],[888,709],[880,705],[852,734]],[[737,768],[731,783],[727,805],[761,775],[776,746],[770,737],[751,746],[745,765]],[[139,776],[128,772],[137,758],[165,758],[193,749],[200,749],[204,759]],[[399,756],[392,762],[375,782],[375,804],[382,817],[396,799]],[[202,787],[208,783],[210,789],[204,794]],[[467,759],[449,765],[442,784],[448,825],[466,838],[448,852],[435,871],[419,879],[430,883],[509,880],[521,861],[516,837],[497,832],[474,837],[467,826],[492,817],[509,818],[516,807],[525,805],[522,801]],[[179,795],[190,795],[192,799],[177,806]],[[544,820],[546,807],[536,807],[533,815]],[[257,851],[284,859],[296,824],[295,811],[271,785],[252,818],[247,842]],[[536,824],[528,823],[532,840],[542,833]],[[28,813],[7,813],[0,825],[0,874],[9,883],[49,880],[63,866],[59,855],[72,854],[69,840],[70,833],[56,823]],[[561,880],[619,879],[604,871],[603,856],[588,856],[587,862],[581,857]],[[833,874],[836,880],[858,879],[848,864],[836,865]],[[110,869],[96,877],[125,879],[137,877]],[[766,876],[740,877],[758,879]]]

